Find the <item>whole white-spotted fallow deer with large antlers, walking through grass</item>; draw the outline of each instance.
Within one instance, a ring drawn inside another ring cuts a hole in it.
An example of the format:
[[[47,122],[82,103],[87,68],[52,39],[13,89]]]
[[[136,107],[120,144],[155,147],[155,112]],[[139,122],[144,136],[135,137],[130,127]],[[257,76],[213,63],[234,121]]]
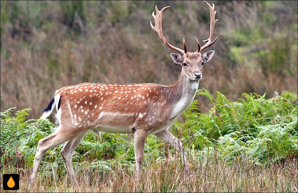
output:
[[[215,6],[204,1],[210,10],[210,36],[202,47],[196,39],[198,49],[188,52],[183,38],[184,50],[177,48],[165,39],[162,32],[162,15],[170,6],[152,13],[155,26],[151,28],[158,34],[162,43],[180,54],[171,53],[173,62],[182,66],[176,84],[108,84],[82,83],[62,87],[57,90],[44,109],[41,119],[49,117],[54,108],[57,110],[56,131],[39,140],[34,158],[29,187],[36,180],[41,159],[50,148],[65,143],[61,149],[65,168],[70,181],[78,185],[72,167],[72,156],[86,133],[91,130],[100,136],[99,131],[107,133],[133,134],[136,160],[136,175],[142,172],[144,146],[148,135],[154,135],[173,146],[180,153],[182,166],[188,170],[184,147],[179,139],[170,133],[169,127],[174,120],[192,103],[202,79],[203,64],[214,55],[214,50],[201,54],[217,40],[212,41],[215,26]]]

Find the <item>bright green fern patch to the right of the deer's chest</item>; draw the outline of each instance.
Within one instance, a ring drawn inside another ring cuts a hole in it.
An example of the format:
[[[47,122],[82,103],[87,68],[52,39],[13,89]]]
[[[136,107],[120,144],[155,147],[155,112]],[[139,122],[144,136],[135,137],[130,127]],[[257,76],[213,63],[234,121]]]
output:
[[[206,152],[208,144],[225,160],[242,157],[254,164],[297,157],[297,94],[275,93],[266,100],[266,93],[244,93],[239,102],[229,101],[221,92],[211,95],[206,89],[197,94],[207,96],[212,108],[197,113],[198,103],[193,101],[183,113],[185,122],[175,122],[193,133],[195,149]],[[184,137],[190,140],[185,133]]]

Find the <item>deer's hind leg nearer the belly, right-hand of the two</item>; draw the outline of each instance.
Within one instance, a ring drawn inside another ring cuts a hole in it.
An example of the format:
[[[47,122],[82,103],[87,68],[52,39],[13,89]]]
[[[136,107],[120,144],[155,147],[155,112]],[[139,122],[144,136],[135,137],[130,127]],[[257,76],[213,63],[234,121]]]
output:
[[[75,172],[72,167],[72,155],[75,152],[75,149],[82,141],[83,137],[86,135],[88,131],[84,132],[83,134],[80,134],[77,138],[69,140],[66,142],[66,144],[61,149],[61,155],[63,157],[66,171],[68,172],[70,181],[73,185],[78,185],[77,179],[75,177]]]

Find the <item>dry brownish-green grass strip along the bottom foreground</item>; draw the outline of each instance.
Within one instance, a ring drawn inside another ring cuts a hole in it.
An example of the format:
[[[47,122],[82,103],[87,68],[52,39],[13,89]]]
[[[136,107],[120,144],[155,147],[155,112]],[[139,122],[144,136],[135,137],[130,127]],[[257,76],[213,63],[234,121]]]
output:
[[[88,165],[74,165],[75,171],[81,171],[76,172],[79,187],[72,187],[67,175],[57,176],[49,167],[43,175],[38,174],[36,186],[30,192],[297,192],[297,160],[257,166],[243,158],[231,164],[219,156],[215,151],[190,161],[190,174],[180,167],[176,154],[168,154],[159,163],[145,158],[140,180],[120,164],[111,171],[96,172]],[[1,168],[1,176],[3,173],[18,171],[15,167],[5,167]],[[4,191],[1,179],[1,192],[27,192],[29,174],[28,168],[20,172],[18,191]]]

